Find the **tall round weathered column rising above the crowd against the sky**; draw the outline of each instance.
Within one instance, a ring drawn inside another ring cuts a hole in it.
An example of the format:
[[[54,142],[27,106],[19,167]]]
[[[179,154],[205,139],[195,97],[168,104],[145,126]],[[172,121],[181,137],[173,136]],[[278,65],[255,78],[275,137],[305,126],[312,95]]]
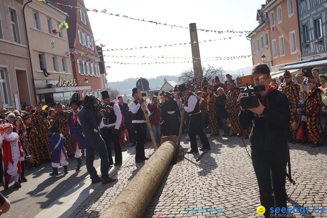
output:
[[[198,79],[201,79],[203,76],[203,72],[202,72],[202,65],[200,59],[200,49],[199,49],[198,31],[197,31],[196,23],[190,24],[190,37],[191,37],[192,57],[194,57],[193,59],[194,77],[198,77]],[[194,41],[197,43],[194,43]]]

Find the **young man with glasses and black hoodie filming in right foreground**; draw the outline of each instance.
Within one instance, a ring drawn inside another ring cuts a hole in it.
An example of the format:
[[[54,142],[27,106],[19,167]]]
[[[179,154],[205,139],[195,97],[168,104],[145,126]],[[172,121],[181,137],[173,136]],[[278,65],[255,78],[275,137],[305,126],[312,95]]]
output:
[[[264,215],[270,217],[271,207],[286,208],[286,128],[291,113],[286,95],[276,85],[270,85],[271,76],[267,64],[256,64],[251,73],[255,85],[264,85],[265,90],[255,92],[259,106],[254,108],[242,108],[246,106],[242,103],[247,101],[241,98],[251,96],[245,96],[246,93],[238,96],[238,101],[242,102],[238,121],[242,129],[246,129],[253,121],[250,134],[252,165],[258,181],[261,205],[266,208]]]

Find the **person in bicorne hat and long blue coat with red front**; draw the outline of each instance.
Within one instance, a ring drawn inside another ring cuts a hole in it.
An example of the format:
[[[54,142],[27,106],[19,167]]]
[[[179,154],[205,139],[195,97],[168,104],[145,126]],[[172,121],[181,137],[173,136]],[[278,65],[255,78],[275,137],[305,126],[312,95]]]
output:
[[[82,149],[84,150],[84,155],[86,157],[86,145],[82,126],[80,125],[78,118],[78,113],[81,109],[80,95],[78,92],[75,92],[72,95],[70,106],[73,108],[73,110],[68,114],[68,124],[70,136],[72,137],[73,142],[73,151],[75,153],[75,158],[77,158],[77,166],[75,170],[79,170],[83,164],[81,152]]]

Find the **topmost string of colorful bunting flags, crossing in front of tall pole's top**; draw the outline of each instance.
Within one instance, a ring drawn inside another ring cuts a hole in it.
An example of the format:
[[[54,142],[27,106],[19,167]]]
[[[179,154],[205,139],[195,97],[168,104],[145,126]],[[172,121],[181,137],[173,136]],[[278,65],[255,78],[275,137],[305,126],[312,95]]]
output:
[[[225,31],[222,31],[222,30],[206,30],[206,29],[198,29],[198,28],[191,28],[191,27],[183,27],[183,26],[177,26],[177,25],[170,25],[170,24],[166,24],[166,23],[161,23],[161,21],[158,23],[156,21],[146,21],[144,20],[144,18],[141,20],[141,19],[136,19],[136,18],[132,18],[132,17],[129,17],[129,16],[126,16],[126,15],[122,15],[120,16],[119,14],[114,14],[114,13],[107,13],[107,10],[104,8],[103,10],[99,11],[97,9],[88,9],[88,8],[80,8],[80,7],[74,7],[74,6],[71,6],[71,5],[64,5],[64,4],[61,4],[61,3],[53,3],[53,2],[49,2],[49,1],[46,1],[46,0],[37,0],[37,1],[40,1],[40,2],[44,2],[46,4],[54,4],[54,5],[60,5],[60,6],[66,6],[66,7],[69,7],[69,8],[76,8],[78,11],[80,9],[84,9],[86,11],[93,11],[95,13],[99,12],[99,13],[104,13],[104,14],[107,14],[107,15],[113,15],[113,16],[118,16],[118,17],[124,17],[124,18],[129,18],[129,19],[132,19],[132,20],[137,20],[137,21],[143,21],[143,22],[148,22],[148,23],[153,23],[153,24],[160,24],[160,25],[167,25],[167,26],[171,26],[171,28],[173,27],[178,27],[178,28],[185,28],[185,29],[191,29],[192,31],[202,31],[202,32],[215,32],[215,33],[218,33],[218,34],[221,34],[221,33],[247,33],[247,34],[250,34],[250,33],[254,33],[255,35],[257,33],[260,34],[260,32],[268,32],[268,31],[273,31],[274,27],[269,27],[269,28],[265,28],[265,29],[258,29],[258,30],[246,30],[246,31],[234,31],[234,29],[232,30],[225,30]]]

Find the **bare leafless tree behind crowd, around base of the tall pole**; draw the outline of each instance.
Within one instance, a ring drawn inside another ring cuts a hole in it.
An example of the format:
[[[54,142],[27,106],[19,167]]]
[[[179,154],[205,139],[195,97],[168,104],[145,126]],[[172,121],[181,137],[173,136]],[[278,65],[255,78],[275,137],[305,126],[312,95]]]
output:
[[[193,78],[198,77],[199,83],[201,83],[203,76],[206,76],[209,82],[211,81],[211,79],[214,79],[215,76],[219,76],[219,79],[222,81],[224,80],[225,71],[222,69],[222,67],[215,68],[214,66],[208,64],[207,66],[202,66],[202,72],[202,75],[199,74],[194,76],[194,71],[191,67],[190,69],[181,72],[181,74],[178,76],[178,81],[180,83],[185,82],[193,84]]]

